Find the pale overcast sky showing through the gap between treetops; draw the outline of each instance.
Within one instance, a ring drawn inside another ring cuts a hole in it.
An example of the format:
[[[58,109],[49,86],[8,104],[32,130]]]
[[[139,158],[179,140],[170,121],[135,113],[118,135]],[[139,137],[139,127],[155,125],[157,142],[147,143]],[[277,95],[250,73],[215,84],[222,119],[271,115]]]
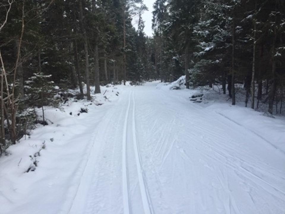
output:
[[[142,15],[143,20],[145,21],[145,34],[147,36],[152,36],[152,29],[151,29],[151,20],[152,20],[152,5],[155,2],[155,0],[143,0],[144,4],[148,7],[148,11],[145,11]],[[135,17],[133,19],[133,25],[137,29],[137,22],[138,17]]]

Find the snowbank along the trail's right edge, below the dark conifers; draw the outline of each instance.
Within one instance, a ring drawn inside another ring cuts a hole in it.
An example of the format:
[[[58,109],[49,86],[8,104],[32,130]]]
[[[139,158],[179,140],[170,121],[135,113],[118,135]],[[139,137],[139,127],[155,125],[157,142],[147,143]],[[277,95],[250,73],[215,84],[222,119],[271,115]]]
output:
[[[267,141],[276,150],[280,150],[285,154],[285,117],[274,115],[274,118],[267,117],[264,112],[267,106],[260,106],[259,111],[254,111],[245,107],[245,92],[243,85],[236,84],[236,106],[232,106],[232,100],[229,96],[222,94],[222,88],[214,85],[213,88],[208,86],[186,89],[185,76],[181,76],[172,83],[159,83],[158,89],[168,91],[170,95],[175,95],[178,100],[189,100],[196,103],[202,108],[214,111],[232,122],[250,130],[261,139]],[[181,90],[173,90],[181,89]]]

